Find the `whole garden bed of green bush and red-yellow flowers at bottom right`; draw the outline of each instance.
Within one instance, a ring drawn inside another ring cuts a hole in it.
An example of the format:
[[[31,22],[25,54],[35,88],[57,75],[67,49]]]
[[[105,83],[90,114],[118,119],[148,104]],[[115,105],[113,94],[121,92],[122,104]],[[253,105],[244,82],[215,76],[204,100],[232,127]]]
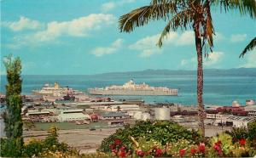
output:
[[[241,128],[241,134],[235,128],[231,133],[220,133],[208,138],[205,144],[200,142],[199,133],[176,123],[138,121],[105,138],[98,151],[116,157],[253,157],[256,145],[251,137],[255,138],[255,124],[253,121],[247,128]],[[235,140],[232,133],[240,138]]]

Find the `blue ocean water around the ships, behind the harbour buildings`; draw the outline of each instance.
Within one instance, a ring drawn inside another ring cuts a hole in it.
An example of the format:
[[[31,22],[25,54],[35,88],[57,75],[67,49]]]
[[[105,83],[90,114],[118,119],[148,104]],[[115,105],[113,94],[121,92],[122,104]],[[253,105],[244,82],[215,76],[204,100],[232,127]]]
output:
[[[154,87],[178,88],[178,96],[115,96],[113,99],[143,99],[148,103],[166,102],[184,105],[196,104],[195,75],[132,76],[138,83]],[[22,76],[22,93],[31,94],[44,83],[59,82],[62,87],[73,87],[87,93],[89,87],[122,85],[131,76]],[[1,76],[1,93],[5,93],[6,76]],[[230,105],[233,100],[245,104],[246,99],[256,99],[256,76],[205,76],[204,104]]]

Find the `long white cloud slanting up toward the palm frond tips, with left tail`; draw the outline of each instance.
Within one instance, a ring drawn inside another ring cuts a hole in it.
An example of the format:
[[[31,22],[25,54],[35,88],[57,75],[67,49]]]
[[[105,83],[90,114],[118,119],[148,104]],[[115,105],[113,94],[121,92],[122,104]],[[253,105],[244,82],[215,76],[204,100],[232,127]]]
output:
[[[44,26],[44,30],[30,32],[26,35],[17,35],[13,43],[6,45],[8,48],[20,48],[23,46],[37,47],[45,43],[59,43],[58,37],[87,37],[91,31],[96,31],[113,25],[116,18],[113,14],[89,14],[68,21],[51,21]]]

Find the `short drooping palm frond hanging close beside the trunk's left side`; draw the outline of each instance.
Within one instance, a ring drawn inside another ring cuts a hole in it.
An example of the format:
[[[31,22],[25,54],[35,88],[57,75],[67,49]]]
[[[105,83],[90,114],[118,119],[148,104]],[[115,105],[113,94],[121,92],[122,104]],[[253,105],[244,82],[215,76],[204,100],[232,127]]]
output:
[[[193,21],[193,10],[191,9],[185,9],[183,11],[180,11],[179,13],[175,14],[171,20],[167,23],[164,30],[161,32],[158,46],[162,46],[164,37],[167,37],[170,33],[170,30],[176,31],[177,28],[181,29],[187,29],[187,27],[191,24]]]

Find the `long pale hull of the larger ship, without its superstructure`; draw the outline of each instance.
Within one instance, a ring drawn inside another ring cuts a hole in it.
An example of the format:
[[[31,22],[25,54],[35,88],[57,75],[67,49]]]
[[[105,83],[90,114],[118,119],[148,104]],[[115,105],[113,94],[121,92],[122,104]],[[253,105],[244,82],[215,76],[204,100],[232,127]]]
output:
[[[150,91],[150,90],[116,90],[116,89],[89,89],[89,93],[92,95],[151,95],[151,96],[177,96],[177,89],[171,90],[171,92],[164,91]]]

